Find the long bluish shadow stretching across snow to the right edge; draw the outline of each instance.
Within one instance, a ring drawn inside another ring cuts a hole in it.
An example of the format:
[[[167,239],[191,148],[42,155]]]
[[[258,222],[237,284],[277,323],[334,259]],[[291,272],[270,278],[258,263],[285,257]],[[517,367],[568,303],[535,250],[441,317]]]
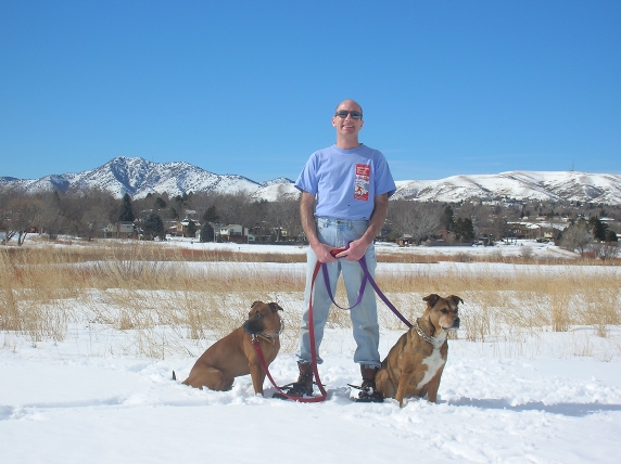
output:
[[[444,402],[444,401],[442,401]],[[510,404],[507,400],[459,398],[458,400],[446,401],[451,405],[469,405],[479,409],[502,409],[507,411],[542,411],[552,414],[561,414],[572,417],[584,417],[604,411],[621,411],[621,404],[594,403],[556,403],[544,404],[541,401],[530,401],[524,404]]]

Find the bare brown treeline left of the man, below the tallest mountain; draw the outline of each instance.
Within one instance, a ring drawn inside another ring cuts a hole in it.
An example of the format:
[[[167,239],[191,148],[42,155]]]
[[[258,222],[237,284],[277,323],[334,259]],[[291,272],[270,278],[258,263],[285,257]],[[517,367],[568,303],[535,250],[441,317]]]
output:
[[[239,223],[265,236],[273,229],[302,233],[297,201],[255,201],[245,193],[149,194],[131,199],[116,198],[101,190],[67,193],[45,192],[26,195],[20,191],[0,193],[0,241],[15,239],[23,244],[28,233],[54,239],[71,235],[84,240],[101,236],[110,223],[130,221],[137,228],[159,230],[170,221],[190,219],[195,223]],[[159,232],[159,231],[157,231]]]

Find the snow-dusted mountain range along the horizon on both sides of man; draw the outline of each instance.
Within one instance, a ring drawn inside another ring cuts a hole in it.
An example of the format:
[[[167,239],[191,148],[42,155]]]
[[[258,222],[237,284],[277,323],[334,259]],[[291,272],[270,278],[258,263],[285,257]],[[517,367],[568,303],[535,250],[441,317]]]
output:
[[[468,198],[568,201],[621,204],[621,176],[578,171],[510,171],[498,175],[452,176],[440,180],[396,181],[393,198],[459,202]],[[152,163],[143,158],[117,157],[99,168],[78,173],[51,175],[40,179],[0,177],[0,190],[18,189],[33,194],[43,191],[98,188],[116,197],[148,194],[246,192],[257,199],[296,198],[293,181],[277,178],[255,182],[242,176],[216,175],[183,162]]]

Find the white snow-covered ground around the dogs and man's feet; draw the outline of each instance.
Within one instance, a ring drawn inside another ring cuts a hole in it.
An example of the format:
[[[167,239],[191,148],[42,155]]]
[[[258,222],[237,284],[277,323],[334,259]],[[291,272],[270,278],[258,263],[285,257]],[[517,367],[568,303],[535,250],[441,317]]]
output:
[[[404,331],[382,332],[382,356]],[[588,340],[588,352],[572,350],[576,337]],[[520,345],[451,340],[439,403],[400,409],[393,400],[351,401],[347,384],[359,383],[359,372],[344,330],[327,333],[319,372],[329,397],[310,404],[269,398],[268,381],[266,397],[255,397],[250,376],[227,392],[186,387],[172,371],[183,379],[198,352],[138,358],[124,352],[129,332],[76,324],[65,340],[36,347],[0,332],[0,462],[617,463],[620,339],[620,327],[604,339],[574,327]],[[292,382],[294,356],[281,352],[270,371]]]

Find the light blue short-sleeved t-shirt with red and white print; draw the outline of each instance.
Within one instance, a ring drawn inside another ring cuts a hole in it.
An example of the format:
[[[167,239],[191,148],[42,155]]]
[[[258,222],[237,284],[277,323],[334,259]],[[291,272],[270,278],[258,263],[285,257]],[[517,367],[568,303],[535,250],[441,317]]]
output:
[[[384,155],[362,144],[352,150],[332,145],[313,153],[295,188],[316,195],[316,217],[333,219],[368,220],[373,197],[396,191]]]

